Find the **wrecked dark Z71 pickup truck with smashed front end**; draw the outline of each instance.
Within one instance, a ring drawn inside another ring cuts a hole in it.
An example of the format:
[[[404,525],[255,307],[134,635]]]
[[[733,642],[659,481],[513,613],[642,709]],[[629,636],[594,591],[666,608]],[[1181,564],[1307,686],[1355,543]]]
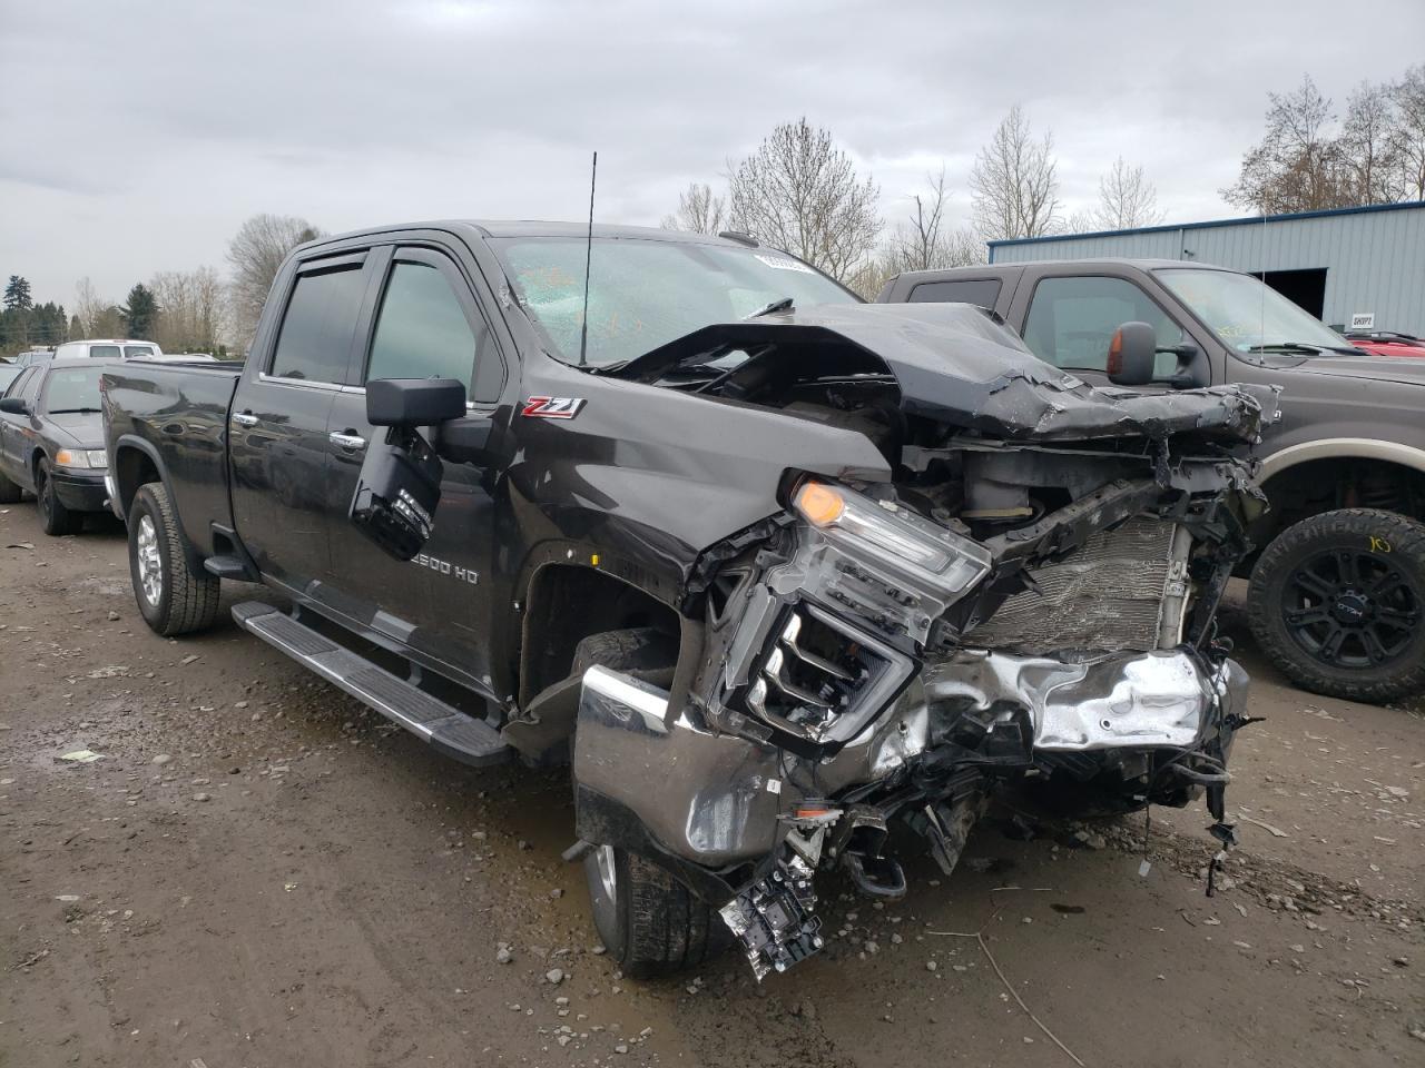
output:
[[[949,871],[1026,776],[1224,820],[1270,390],[1090,387],[742,235],[452,222],[301,246],[241,373],[104,410],[148,625],[261,581],[244,628],[436,749],[571,760],[630,974],[781,971],[818,871],[899,896],[892,823]]]

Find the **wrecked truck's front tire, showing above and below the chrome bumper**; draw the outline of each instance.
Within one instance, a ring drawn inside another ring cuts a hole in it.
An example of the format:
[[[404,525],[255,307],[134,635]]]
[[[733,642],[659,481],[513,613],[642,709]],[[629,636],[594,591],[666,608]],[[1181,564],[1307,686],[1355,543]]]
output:
[[[574,672],[600,664],[647,675],[671,669],[675,659],[675,641],[638,627],[584,638],[574,652]],[[637,853],[596,846],[584,857],[584,873],[598,937],[633,978],[695,967],[731,941],[715,909]]]

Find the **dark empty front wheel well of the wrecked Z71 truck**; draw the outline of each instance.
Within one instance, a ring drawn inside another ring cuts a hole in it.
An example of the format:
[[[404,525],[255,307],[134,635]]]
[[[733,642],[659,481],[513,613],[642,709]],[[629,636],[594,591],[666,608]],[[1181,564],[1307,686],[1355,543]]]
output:
[[[654,627],[681,639],[683,617],[651,594],[590,567],[540,568],[524,602],[520,706],[566,678],[574,649],[591,634]]]

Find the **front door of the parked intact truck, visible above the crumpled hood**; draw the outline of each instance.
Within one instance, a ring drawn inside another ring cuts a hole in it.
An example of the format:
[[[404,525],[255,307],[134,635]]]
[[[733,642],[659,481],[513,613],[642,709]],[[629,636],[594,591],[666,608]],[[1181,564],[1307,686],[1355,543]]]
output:
[[[1109,343],[1126,322],[1149,323],[1159,347],[1196,343],[1137,279],[1110,266],[1094,273],[1030,268],[1015,293],[1010,322],[1039,359],[1099,386],[1109,384]],[[1176,356],[1159,353],[1159,376],[1176,366]]]

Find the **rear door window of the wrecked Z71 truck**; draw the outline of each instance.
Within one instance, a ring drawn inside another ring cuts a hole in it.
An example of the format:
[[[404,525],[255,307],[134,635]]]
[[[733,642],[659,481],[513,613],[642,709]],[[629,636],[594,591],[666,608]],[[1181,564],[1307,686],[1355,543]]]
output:
[[[365,290],[361,263],[298,275],[272,355],[272,376],[343,382]]]

